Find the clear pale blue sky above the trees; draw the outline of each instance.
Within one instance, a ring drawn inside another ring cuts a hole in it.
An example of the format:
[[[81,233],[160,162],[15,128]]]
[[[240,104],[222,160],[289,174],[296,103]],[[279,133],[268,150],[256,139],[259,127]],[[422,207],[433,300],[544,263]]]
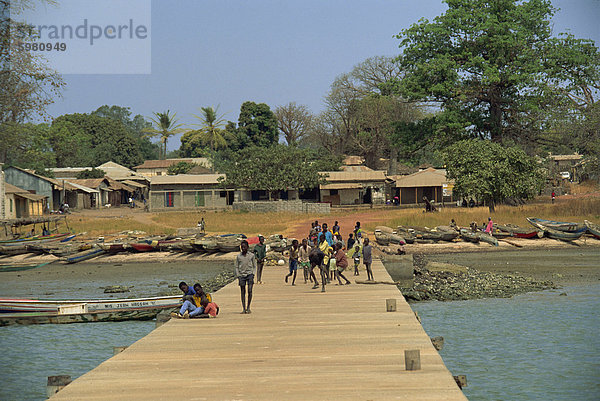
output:
[[[554,32],[600,43],[600,0],[554,0]],[[64,75],[52,117],[98,107],[130,107],[132,114],[176,112],[180,122],[219,105],[236,121],[245,101],[274,109],[295,101],[323,110],[336,76],[368,57],[394,56],[394,35],[446,9],[441,0],[180,0],[151,1],[151,73]],[[99,59],[99,63],[118,60]],[[180,146],[169,140],[169,150]]]

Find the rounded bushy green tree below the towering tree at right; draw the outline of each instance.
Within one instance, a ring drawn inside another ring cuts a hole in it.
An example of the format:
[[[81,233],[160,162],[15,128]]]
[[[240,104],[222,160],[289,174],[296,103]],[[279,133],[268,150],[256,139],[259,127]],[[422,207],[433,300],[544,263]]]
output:
[[[454,180],[454,191],[483,199],[490,212],[507,198],[533,198],[544,184],[536,160],[518,147],[464,140],[448,147],[444,159],[447,177]]]

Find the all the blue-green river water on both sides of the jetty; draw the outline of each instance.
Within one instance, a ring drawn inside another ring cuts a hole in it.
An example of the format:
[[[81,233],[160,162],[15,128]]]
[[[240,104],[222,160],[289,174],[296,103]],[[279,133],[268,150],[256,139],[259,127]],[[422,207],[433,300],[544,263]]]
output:
[[[168,268],[190,269],[172,264]],[[155,265],[142,271],[136,288],[156,286],[165,276],[177,282],[182,275],[161,273]],[[191,271],[183,276],[202,281],[222,267],[196,265],[192,271],[193,276]],[[27,277],[19,277],[23,278]],[[105,279],[91,278],[69,284],[77,293],[84,285],[96,289],[105,284]],[[34,284],[20,283],[3,280],[0,295],[22,296],[28,291],[23,285]],[[57,298],[74,295],[59,285],[52,291]],[[430,336],[444,337],[440,354],[452,374],[467,375],[463,390],[470,400],[598,400],[599,295],[596,281],[510,299],[411,307]],[[110,358],[112,347],[130,345],[154,327],[154,321],[0,327],[0,400],[44,400],[47,376],[66,374],[75,379]]]

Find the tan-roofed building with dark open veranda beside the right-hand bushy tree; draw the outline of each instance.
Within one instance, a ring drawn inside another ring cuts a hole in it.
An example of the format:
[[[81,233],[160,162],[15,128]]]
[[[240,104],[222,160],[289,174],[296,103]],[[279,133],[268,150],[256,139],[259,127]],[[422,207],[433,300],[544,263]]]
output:
[[[446,179],[445,169],[429,167],[410,175],[390,178],[394,181],[390,184],[389,197],[398,197],[401,205],[424,203],[424,198],[436,203],[455,200],[452,195],[454,184]]]

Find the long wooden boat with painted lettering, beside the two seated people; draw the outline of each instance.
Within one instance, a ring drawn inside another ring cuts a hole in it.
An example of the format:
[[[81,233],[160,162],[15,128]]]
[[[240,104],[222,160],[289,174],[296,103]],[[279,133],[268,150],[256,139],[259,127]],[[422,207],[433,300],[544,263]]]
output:
[[[149,320],[180,303],[179,295],[82,301],[0,299],[0,326]]]

